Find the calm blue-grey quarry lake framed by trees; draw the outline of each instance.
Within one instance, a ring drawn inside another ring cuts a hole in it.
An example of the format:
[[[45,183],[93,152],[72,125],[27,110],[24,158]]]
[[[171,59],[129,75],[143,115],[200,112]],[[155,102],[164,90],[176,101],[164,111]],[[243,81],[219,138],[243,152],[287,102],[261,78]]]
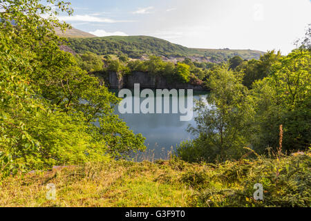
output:
[[[119,94],[119,90],[111,90],[116,96]],[[140,104],[146,99],[140,97],[139,95],[134,95],[133,90],[132,95],[129,96],[133,100],[134,98],[140,101]],[[155,109],[156,109],[156,90],[154,91],[155,99]],[[185,95],[185,104],[187,106],[187,90]],[[140,90],[141,92],[141,90]],[[194,91],[193,92],[193,103],[198,99],[207,97],[209,93],[207,91]],[[158,96],[159,97],[159,96]],[[161,97],[161,96],[160,96]],[[179,103],[180,95],[178,95]],[[162,98],[162,102],[164,99]],[[146,137],[145,145],[147,150],[144,153],[138,153],[134,157],[134,160],[157,160],[157,159],[167,159],[168,152],[176,149],[176,145],[185,140],[193,139],[192,135],[187,132],[187,127],[189,124],[195,125],[194,117],[196,117],[196,112],[194,111],[193,117],[190,121],[180,121],[180,116],[185,116],[185,114],[172,113],[172,97],[169,99],[169,114],[157,113],[120,113],[119,108],[115,108],[115,113],[124,119],[127,126],[134,133],[141,133]],[[164,108],[164,103],[162,103],[162,108]],[[134,107],[133,107],[134,110]]]

